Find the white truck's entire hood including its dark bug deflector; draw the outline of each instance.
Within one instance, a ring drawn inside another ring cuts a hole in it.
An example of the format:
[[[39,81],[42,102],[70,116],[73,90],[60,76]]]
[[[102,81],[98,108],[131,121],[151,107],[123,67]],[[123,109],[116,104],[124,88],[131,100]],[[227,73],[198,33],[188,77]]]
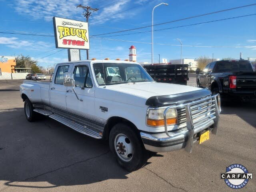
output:
[[[211,95],[207,89],[156,82],[117,84],[100,90],[99,98],[142,107],[180,104]]]

